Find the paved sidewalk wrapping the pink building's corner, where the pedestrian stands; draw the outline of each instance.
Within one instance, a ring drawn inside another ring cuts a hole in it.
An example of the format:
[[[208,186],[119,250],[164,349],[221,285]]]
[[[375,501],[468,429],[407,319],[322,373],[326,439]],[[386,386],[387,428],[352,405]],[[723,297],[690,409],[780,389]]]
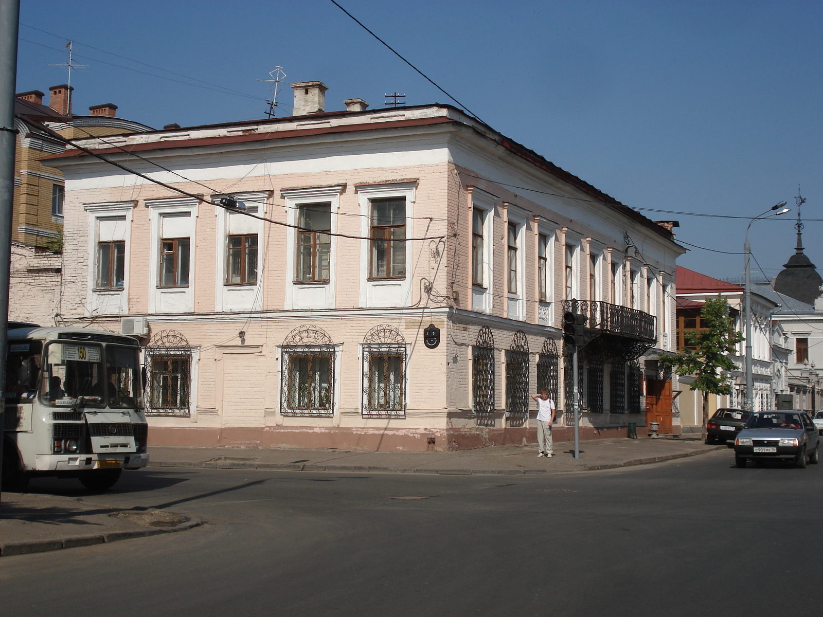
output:
[[[691,457],[725,449],[700,438],[613,438],[555,443],[555,456],[537,458],[534,446],[497,446],[457,452],[359,452],[262,448],[149,448],[149,466],[440,474],[532,474],[593,471]]]

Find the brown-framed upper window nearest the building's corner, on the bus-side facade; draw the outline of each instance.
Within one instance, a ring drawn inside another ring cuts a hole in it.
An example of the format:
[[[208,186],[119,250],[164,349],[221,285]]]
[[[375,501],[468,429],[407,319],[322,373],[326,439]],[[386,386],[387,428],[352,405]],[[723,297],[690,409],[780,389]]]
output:
[[[372,279],[406,278],[406,200],[371,202]]]

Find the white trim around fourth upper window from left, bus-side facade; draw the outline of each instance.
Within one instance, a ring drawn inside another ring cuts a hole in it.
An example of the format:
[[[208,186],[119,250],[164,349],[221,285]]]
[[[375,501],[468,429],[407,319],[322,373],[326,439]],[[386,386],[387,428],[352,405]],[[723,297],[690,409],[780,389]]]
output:
[[[323,188],[300,188],[281,191],[281,197],[286,200],[286,220],[289,225],[297,225],[298,208],[304,203],[332,202],[332,234],[337,233],[337,220],[340,218],[340,194],[345,185]],[[295,281],[297,264],[297,230],[286,227],[286,310],[299,308],[334,308],[335,290],[337,282],[337,236],[332,235],[329,247],[328,283],[299,283]],[[325,301],[319,306],[304,306],[297,297],[301,289],[322,287],[325,290]],[[297,293],[295,293],[297,292]]]

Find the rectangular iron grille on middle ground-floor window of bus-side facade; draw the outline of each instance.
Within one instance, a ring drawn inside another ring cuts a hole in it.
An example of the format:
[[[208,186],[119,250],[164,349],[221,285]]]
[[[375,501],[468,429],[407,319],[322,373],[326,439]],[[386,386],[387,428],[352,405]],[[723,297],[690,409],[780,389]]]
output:
[[[334,347],[283,347],[281,411],[286,416],[334,415]]]

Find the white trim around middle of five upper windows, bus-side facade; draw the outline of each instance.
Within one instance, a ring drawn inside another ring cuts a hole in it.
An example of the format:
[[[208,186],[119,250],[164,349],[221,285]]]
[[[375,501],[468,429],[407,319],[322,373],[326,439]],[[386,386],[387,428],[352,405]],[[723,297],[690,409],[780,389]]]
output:
[[[240,202],[249,202],[247,207],[256,207],[257,216],[266,216],[268,197],[271,195],[270,191],[256,191],[250,193],[226,193],[221,195],[212,195],[212,202],[219,202],[223,197],[234,197]],[[265,242],[265,227],[263,227],[263,220],[254,220],[255,227],[258,234],[258,281],[254,285],[244,285],[247,288],[253,288],[254,300],[248,306],[235,307],[231,306],[230,298],[228,297],[229,290],[227,288],[233,285],[226,285],[226,256],[229,230],[229,216],[230,211],[221,206],[214,206],[216,216],[216,247],[222,253],[216,253],[216,279],[215,279],[215,295],[214,304],[215,311],[222,313],[224,311],[261,311],[263,310],[263,294],[261,293],[261,286],[263,284],[263,270],[266,263],[266,242]],[[238,215],[243,216],[243,215]],[[293,230],[292,230],[293,231]]]

